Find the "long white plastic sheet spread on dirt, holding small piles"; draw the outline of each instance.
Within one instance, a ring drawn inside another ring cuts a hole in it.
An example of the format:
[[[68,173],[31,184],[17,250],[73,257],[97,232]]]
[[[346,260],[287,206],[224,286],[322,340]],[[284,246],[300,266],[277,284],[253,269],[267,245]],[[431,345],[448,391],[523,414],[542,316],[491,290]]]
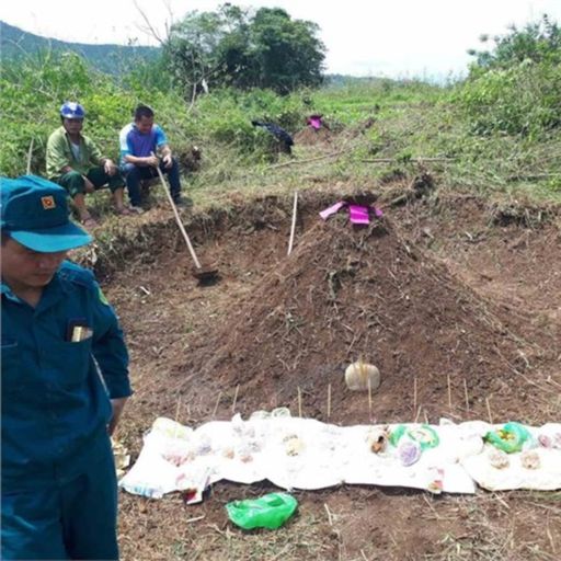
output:
[[[526,449],[510,454],[508,466],[501,469],[489,461],[492,447],[483,443],[483,436],[501,425],[447,420],[428,425],[438,445],[424,448],[411,466],[403,465],[398,447],[390,443],[382,451],[371,449],[373,437],[396,426],[342,427],[260,412],[248,421],[236,415],[229,422],[210,422],[194,431],[160,417],[119,485],[151,497],[192,490],[198,499],[209,483],[222,479],[245,484],[266,479],[287,490],[347,483],[474,493],[476,482],[490,490],[561,489],[561,424],[527,427],[533,438]],[[403,426],[410,431],[422,425]],[[546,442],[543,435],[549,447],[540,445]],[[524,460],[528,449],[534,460],[537,455],[537,466]]]

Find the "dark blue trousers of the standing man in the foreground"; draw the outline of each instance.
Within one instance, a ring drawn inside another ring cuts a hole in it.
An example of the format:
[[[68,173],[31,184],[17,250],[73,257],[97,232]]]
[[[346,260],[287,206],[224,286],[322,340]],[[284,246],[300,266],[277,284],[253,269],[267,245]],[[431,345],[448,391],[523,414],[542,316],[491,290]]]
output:
[[[117,560],[117,479],[108,436],[70,481],[23,492],[2,488],[2,559]]]

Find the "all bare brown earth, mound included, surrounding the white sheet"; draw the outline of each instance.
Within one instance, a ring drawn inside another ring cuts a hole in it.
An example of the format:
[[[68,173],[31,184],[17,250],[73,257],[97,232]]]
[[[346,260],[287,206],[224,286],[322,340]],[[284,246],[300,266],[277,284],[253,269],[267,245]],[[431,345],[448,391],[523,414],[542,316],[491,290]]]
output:
[[[341,195],[341,194],[340,194]],[[198,426],[289,407],[339,424],[561,419],[559,208],[497,206],[471,195],[388,205],[355,229],[329,191],[270,196],[186,219],[220,279],[199,286],[171,213],[142,217],[136,239],[100,260],[127,333],[136,393],[119,439],[135,459],[157,416]],[[371,415],[344,385],[363,357],[381,386]],[[448,382],[449,380],[449,382]],[[449,383],[449,390],[448,390]],[[416,391],[415,389],[416,388]],[[451,405],[451,407],[450,407]],[[216,410],[216,414],[214,414]],[[556,560],[561,493],[430,495],[341,486],[296,492],[276,531],[232,527],[224,505],[273,486],[214,485],[201,505],[179,494],[121,494],[124,560]]]

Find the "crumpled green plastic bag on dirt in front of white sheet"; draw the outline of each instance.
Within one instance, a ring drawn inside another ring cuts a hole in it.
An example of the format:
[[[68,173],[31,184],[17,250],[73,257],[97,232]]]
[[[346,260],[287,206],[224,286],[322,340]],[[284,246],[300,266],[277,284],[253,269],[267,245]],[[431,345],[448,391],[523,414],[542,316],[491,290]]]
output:
[[[268,493],[259,499],[232,501],[226,505],[228,517],[237,526],[276,529],[295,513],[298,502],[287,493]]]

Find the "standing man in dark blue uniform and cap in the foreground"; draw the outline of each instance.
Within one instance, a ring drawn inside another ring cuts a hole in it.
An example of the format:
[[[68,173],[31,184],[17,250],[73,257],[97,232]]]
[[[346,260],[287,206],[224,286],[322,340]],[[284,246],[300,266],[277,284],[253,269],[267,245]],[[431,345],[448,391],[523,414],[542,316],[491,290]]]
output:
[[[2,552],[118,559],[110,434],[130,396],[128,354],[93,275],[65,257],[92,241],[62,187],[0,180]]]

